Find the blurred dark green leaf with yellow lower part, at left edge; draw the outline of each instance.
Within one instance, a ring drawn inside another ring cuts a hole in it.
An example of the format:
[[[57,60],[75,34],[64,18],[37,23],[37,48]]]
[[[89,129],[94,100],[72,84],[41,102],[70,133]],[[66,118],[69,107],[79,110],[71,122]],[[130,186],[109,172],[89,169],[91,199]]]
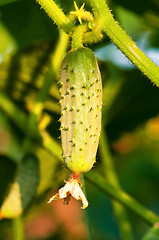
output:
[[[35,195],[38,182],[38,159],[32,154],[28,154],[18,166],[15,182],[1,206],[0,215],[3,218],[15,218],[21,215]]]

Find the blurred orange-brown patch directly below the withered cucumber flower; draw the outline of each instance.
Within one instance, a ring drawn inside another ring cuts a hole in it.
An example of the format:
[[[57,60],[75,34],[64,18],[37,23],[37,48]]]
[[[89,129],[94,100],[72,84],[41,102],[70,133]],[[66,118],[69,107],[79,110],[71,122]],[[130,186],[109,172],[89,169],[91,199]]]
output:
[[[26,238],[43,239],[59,234],[65,240],[88,239],[84,211],[81,209],[81,202],[73,198],[71,198],[69,205],[64,205],[63,200],[46,204],[46,208],[37,218],[26,223]]]

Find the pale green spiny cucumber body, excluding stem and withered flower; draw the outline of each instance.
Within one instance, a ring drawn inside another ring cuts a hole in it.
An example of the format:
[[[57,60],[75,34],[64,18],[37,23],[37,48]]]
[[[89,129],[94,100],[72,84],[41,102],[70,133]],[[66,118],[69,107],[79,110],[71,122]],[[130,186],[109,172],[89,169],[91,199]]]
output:
[[[102,80],[92,50],[65,56],[59,84],[64,163],[71,172],[87,172],[96,159],[102,111]]]

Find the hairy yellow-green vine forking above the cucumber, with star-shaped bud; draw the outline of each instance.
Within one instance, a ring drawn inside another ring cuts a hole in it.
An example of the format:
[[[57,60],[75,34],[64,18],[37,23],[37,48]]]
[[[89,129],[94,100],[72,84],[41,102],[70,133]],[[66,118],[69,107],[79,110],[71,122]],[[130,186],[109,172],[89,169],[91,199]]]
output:
[[[84,5],[78,8],[75,3],[76,11],[71,12],[68,16],[63,13],[54,1],[36,1],[58,27],[69,35],[72,35],[78,27],[75,25],[74,19],[71,19],[70,15],[72,15],[72,13],[79,19],[80,24],[82,23],[82,19],[87,20],[88,26],[92,26],[92,29],[88,27],[87,32],[83,34],[83,43],[91,44],[93,42],[99,42],[107,35],[153,84],[159,86],[159,67],[139,49],[137,44],[119,26],[104,0],[89,0],[93,14],[85,11]]]

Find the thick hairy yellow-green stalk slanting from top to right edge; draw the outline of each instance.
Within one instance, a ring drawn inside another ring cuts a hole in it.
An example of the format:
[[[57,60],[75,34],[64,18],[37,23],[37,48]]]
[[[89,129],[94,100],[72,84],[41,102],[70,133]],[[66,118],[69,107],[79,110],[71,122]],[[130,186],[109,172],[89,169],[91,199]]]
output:
[[[140,69],[157,87],[159,87],[159,67],[151,61],[126,34],[113,18],[104,0],[89,0],[103,31],[113,43]]]

